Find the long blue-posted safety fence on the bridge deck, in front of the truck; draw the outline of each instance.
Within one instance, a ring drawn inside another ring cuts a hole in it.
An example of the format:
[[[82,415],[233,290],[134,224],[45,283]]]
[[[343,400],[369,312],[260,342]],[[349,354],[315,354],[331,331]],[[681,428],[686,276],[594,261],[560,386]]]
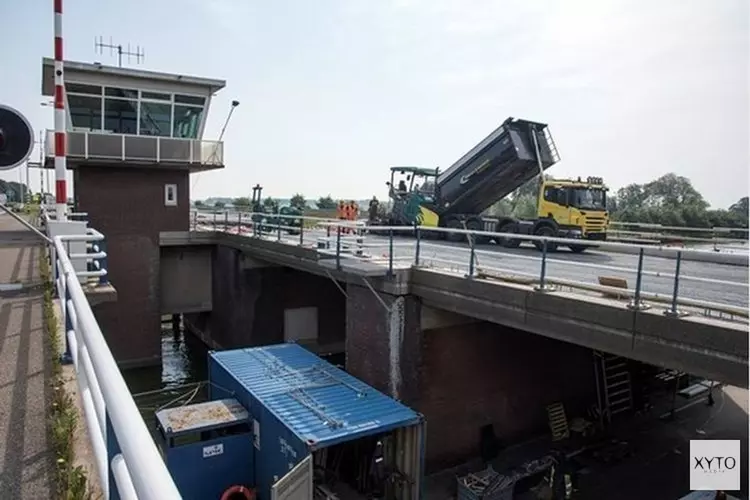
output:
[[[654,258],[645,255],[645,249],[653,251],[653,246],[609,241],[589,242],[419,226],[365,226],[363,223],[326,218],[240,212],[194,212],[192,221],[195,230],[233,232],[317,248],[323,258],[335,259],[339,267],[345,259],[360,259],[385,266],[388,274],[413,266],[427,267],[459,273],[467,279],[485,277],[523,282],[533,285],[539,292],[566,288],[600,296],[604,294],[628,300],[628,307],[632,309],[647,309],[663,304],[665,314],[671,316],[699,311],[731,320],[745,321],[748,318],[745,305],[748,283],[741,278],[745,273],[734,273],[739,279],[733,280],[700,275],[695,268],[692,273],[684,271],[684,262],[689,254],[706,253],[701,250],[678,250],[669,261],[659,259],[661,267],[649,268],[648,261]],[[466,242],[456,245],[436,241],[440,233],[449,232],[464,235]],[[404,237],[407,235],[410,238]],[[477,238],[495,241],[522,238],[536,243],[541,251],[536,254],[498,251],[491,246],[475,245]],[[634,254],[635,265],[632,268],[608,265],[586,261],[585,257],[570,260],[556,258],[556,247],[572,243],[603,250],[629,249],[629,253]],[[674,249],[670,250],[674,252]],[[665,262],[671,263],[673,268],[663,268]],[[600,271],[610,274],[601,276],[598,274]],[[625,275],[634,279],[635,283],[631,284],[623,278],[613,280],[612,274],[618,277]],[[586,275],[588,281],[581,279]],[[691,293],[685,292],[684,289],[688,287]],[[714,296],[729,296],[731,300],[716,300]]]

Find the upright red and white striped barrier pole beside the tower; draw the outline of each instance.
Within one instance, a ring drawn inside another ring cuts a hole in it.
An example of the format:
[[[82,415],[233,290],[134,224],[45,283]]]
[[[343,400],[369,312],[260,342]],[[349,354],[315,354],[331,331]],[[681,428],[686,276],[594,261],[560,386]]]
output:
[[[65,87],[63,82],[62,0],[55,4],[55,208],[57,220],[67,220],[68,189],[65,182]]]

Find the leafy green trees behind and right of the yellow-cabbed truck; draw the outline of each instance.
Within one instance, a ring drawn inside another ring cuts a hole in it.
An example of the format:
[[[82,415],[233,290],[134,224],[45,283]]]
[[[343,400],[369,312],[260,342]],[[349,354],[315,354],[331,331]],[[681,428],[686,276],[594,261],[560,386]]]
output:
[[[545,175],[545,179],[553,179]],[[530,219],[537,215],[540,181],[526,183],[507,198],[495,203],[491,216]],[[748,197],[740,198],[728,209],[710,208],[690,180],[666,174],[645,184],[629,184],[607,193],[607,210],[613,220],[644,222],[664,226],[748,227]]]

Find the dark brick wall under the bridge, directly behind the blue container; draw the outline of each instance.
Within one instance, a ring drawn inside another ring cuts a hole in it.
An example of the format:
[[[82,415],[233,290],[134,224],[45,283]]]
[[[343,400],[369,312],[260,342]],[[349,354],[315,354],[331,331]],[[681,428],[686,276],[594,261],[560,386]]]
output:
[[[241,252],[217,246],[213,311],[186,315],[224,348],[284,341],[284,309],[318,308],[318,342],[344,340],[344,295],[328,278],[285,267],[241,268]]]

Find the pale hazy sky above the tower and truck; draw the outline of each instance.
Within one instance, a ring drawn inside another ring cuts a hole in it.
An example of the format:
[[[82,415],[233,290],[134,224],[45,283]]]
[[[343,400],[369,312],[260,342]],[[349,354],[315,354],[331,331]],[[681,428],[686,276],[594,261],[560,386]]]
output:
[[[0,0],[0,102],[35,130],[52,5]],[[554,177],[674,172],[717,208],[749,191],[749,25],[747,0],[68,0],[63,20],[66,59],[116,65],[94,49],[112,37],[141,69],[227,81],[204,133],[240,101],[226,168],[193,199],[382,197],[390,166],[447,168],[513,116],[549,124]]]

